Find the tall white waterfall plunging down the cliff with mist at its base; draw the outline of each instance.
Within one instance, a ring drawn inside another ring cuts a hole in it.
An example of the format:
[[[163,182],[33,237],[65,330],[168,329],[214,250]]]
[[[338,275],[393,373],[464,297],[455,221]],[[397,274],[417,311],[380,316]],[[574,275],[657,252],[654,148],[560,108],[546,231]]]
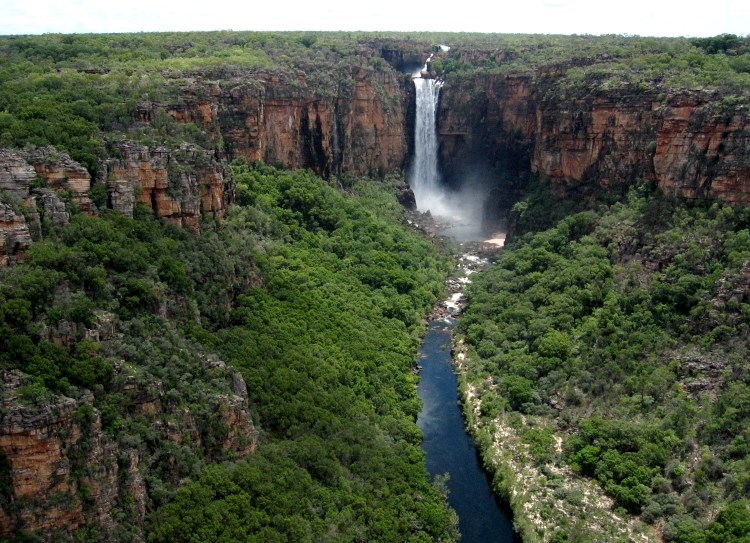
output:
[[[458,190],[441,183],[435,117],[442,82],[415,74],[414,86],[416,120],[409,184],[417,200],[417,209],[444,219],[450,224],[445,233],[459,241],[482,239],[489,233],[484,224],[488,194],[479,175],[466,176]]]

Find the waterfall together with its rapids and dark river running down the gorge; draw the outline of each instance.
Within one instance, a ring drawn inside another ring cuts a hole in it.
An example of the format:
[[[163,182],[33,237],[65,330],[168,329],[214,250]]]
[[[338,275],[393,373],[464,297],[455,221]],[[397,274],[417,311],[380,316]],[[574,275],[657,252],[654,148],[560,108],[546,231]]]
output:
[[[442,51],[449,49],[441,46]],[[487,262],[478,256],[488,248],[501,246],[505,234],[487,236],[488,226],[482,220],[486,194],[477,190],[449,193],[441,184],[438,161],[436,113],[442,80],[429,78],[429,63],[412,74],[415,87],[416,115],[414,123],[414,157],[409,182],[414,190],[417,208],[430,211],[434,217],[447,218],[440,235],[472,247],[461,257],[465,276],[451,282],[452,297],[443,303],[439,315],[432,319],[420,347],[419,397],[422,410],[417,417],[424,435],[422,449],[427,456],[427,469],[434,478],[448,474],[448,503],[458,513],[458,528],[463,543],[512,543],[513,533],[508,508],[503,508],[492,492],[489,476],[482,469],[473,438],[466,432],[458,402],[458,382],[451,359],[451,336],[455,314],[460,311],[461,290],[468,275]],[[411,223],[410,223],[411,224]],[[485,227],[485,228],[483,228]],[[472,242],[487,240],[488,242]],[[489,243],[489,244],[488,244]]]

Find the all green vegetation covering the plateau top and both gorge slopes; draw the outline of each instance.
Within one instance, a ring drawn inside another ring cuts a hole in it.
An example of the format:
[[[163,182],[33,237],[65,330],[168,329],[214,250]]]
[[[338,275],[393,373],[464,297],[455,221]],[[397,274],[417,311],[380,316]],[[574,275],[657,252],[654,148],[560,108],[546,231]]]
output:
[[[480,72],[545,78],[561,100],[692,89],[736,108],[750,89],[750,43],[732,35],[0,37],[0,147],[54,145],[92,176],[119,139],[172,149],[187,141],[228,160],[216,126],[170,114],[205,91],[196,82],[260,89],[277,78],[309,96],[346,97],[359,70],[393,70],[381,49],[440,43],[451,49],[432,69],[471,92],[482,89],[466,76]],[[145,208],[134,219],[101,209],[47,226],[26,263],[0,275],[0,368],[23,372],[17,392],[28,404],[92,391],[104,431],[142,459],[151,541],[454,539],[418,448],[411,373],[446,263],[399,225],[382,185],[342,178],[335,190],[309,172],[242,161],[232,170],[238,205],[197,235]],[[104,192],[95,184],[92,198],[103,203]],[[544,231],[505,250],[474,286],[460,327],[476,362],[467,378],[481,394],[480,422],[515,426],[537,463],[599,482],[618,512],[667,540],[743,541],[747,211],[685,207],[642,187],[574,214],[549,193],[542,186],[516,206],[519,232]],[[84,338],[89,329],[111,332],[97,341]],[[222,446],[229,429],[219,416],[235,369],[262,432],[240,461]],[[141,409],[134,388],[162,410]],[[77,421],[86,427],[93,415],[81,408]],[[193,429],[195,443],[166,439],[172,427]],[[70,460],[83,481],[90,467],[80,454]],[[9,469],[0,455],[5,506]],[[136,504],[118,507],[117,536],[132,540]]]

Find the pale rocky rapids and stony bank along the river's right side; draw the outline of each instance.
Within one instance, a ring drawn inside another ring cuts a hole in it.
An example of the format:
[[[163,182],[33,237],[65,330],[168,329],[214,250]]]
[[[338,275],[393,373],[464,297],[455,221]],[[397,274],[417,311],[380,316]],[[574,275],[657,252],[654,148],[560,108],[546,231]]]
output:
[[[459,275],[450,279],[450,298],[436,308],[438,315],[460,317],[467,304],[464,295],[470,276],[491,265],[497,245],[467,242],[458,257]],[[592,526],[601,541],[648,543],[659,541],[652,527],[640,520],[627,522],[613,511],[612,500],[594,481],[579,477],[561,462],[563,436],[534,416],[500,413],[490,423],[480,419],[482,396],[496,387],[492,376],[470,374],[474,353],[454,331],[453,364],[458,374],[459,396],[467,431],[475,438],[484,469],[492,474],[493,490],[513,510],[514,527],[525,543],[555,541],[555,533],[568,537],[589,533]],[[525,434],[528,429],[551,430],[554,436],[553,461],[540,464],[531,452]],[[585,524],[584,524],[585,519]]]

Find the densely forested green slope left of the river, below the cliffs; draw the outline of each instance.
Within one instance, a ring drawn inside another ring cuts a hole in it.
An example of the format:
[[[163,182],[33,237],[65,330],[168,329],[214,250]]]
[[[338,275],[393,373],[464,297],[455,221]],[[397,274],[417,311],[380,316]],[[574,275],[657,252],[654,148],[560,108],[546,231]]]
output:
[[[233,169],[243,205],[199,235],[144,209],[48,231],[2,272],[0,366],[28,375],[25,402],[93,391],[104,431],[143,459],[149,541],[452,540],[411,371],[447,261],[400,225],[382,182],[344,193],[306,171]],[[83,339],[102,318],[116,333]],[[241,461],[216,418],[231,368],[262,431]],[[163,413],[138,409],[134,382],[164,391]],[[200,444],[159,433],[180,417]]]

